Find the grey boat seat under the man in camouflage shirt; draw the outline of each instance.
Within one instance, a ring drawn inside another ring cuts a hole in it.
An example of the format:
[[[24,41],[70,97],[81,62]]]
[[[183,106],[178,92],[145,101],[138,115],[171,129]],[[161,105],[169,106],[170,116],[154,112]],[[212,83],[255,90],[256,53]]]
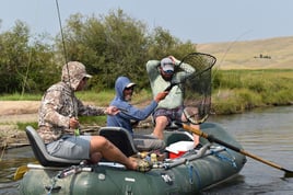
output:
[[[32,127],[27,126],[25,129],[28,141],[32,146],[35,158],[38,162],[44,167],[69,167],[72,164],[80,164],[81,159],[72,160],[72,159],[63,159],[54,157],[48,153],[46,146],[43,139],[39,137],[37,131]]]

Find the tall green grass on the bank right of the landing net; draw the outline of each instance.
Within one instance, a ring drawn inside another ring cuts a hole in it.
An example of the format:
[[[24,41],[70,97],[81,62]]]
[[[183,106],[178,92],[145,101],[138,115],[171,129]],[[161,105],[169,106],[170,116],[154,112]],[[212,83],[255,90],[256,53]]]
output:
[[[218,70],[212,106],[218,114],[293,103],[293,70]]]

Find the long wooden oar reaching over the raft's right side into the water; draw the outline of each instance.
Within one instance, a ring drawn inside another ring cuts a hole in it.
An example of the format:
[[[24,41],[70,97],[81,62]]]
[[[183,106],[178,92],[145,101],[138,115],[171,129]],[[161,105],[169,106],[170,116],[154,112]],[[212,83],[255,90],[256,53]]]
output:
[[[191,127],[189,125],[181,124],[181,123],[176,123],[176,124],[178,126],[181,126],[186,130],[189,130],[191,133],[197,134],[200,137],[203,137],[203,138],[208,139],[210,142],[216,142],[216,144],[222,145],[222,146],[224,146],[224,147],[226,147],[226,148],[228,148],[231,150],[234,150],[234,151],[239,152],[239,153],[242,153],[244,156],[247,156],[247,157],[250,157],[250,158],[253,158],[253,159],[255,159],[257,161],[260,161],[260,162],[262,162],[262,163],[265,163],[267,165],[270,165],[272,168],[276,168],[276,169],[279,169],[281,171],[284,171],[285,172],[284,177],[293,177],[293,171],[290,171],[288,169],[284,169],[281,165],[278,165],[278,164],[276,164],[273,162],[270,162],[270,161],[267,161],[265,159],[261,159],[260,157],[257,157],[255,154],[251,154],[251,153],[245,151],[244,149],[241,149],[241,148],[237,148],[237,147],[235,147],[233,145],[230,145],[227,142],[224,142],[224,141],[222,141],[222,140],[215,138],[215,137],[213,137],[213,135],[208,135],[207,133],[203,133],[200,129],[194,128],[194,127]]]

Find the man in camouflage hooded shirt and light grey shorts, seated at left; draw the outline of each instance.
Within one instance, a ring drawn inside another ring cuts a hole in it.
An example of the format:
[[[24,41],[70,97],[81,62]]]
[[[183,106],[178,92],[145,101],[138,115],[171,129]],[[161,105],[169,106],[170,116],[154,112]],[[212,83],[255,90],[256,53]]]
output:
[[[96,107],[83,105],[74,95],[92,76],[83,64],[70,61],[62,68],[61,81],[51,85],[42,99],[39,107],[38,134],[51,156],[66,159],[87,159],[96,163],[101,158],[138,169],[138,163],[127,158],[118,148],[102,136],[78,136],[78,115],[115,115],[115,106]]]

